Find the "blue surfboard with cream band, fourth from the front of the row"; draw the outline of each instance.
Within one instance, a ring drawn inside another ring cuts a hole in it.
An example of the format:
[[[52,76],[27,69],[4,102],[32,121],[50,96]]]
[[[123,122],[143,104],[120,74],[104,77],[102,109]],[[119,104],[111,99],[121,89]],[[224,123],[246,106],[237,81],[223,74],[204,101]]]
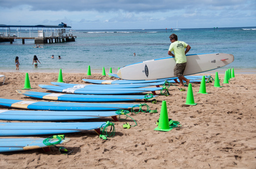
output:
[[[136,104],[113,103],[63,103],[46,101],[24,101],[0,98],[0,105],[11,108],[28,110],[55,110],[55,111],[103,111],[130,109]]]

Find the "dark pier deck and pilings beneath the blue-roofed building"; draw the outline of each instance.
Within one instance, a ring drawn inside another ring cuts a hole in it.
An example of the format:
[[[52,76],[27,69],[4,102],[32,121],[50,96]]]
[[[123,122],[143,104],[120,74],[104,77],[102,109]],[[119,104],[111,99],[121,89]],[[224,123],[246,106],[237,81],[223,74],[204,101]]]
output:
[[[22,44],[25,44],[25,39],[35,39],[35,43],[62,43],[62,42],[75,42],[76,36],[67,35],[62,37],[0,37],[0,42],[14,42],[14,39],[22,39]]]

